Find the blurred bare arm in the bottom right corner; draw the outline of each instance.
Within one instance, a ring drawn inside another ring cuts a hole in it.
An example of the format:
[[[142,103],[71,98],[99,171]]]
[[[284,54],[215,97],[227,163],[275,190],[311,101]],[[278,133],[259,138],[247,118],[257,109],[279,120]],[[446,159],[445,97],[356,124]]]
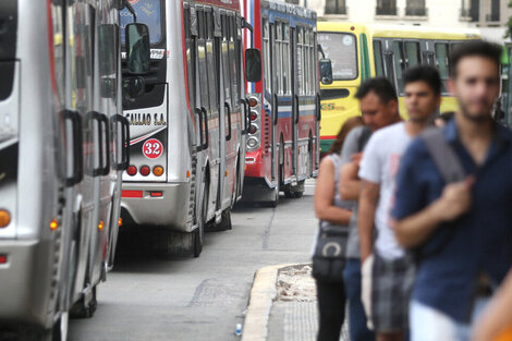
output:
[[[478,319],[473,341],[492,341],[512,328],[512,270]]]

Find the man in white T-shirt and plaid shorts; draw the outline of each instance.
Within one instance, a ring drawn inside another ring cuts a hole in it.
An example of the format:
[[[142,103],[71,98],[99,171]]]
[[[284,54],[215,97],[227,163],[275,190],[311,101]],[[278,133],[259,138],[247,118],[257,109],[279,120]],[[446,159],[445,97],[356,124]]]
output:
[[[414,264],[394,238],[389,210],[400,159],[411,139],[432,122],[441,103],[441,80],[435,68],[409,69],[403,82],[409,120],[371,135],[359,170],[363,180],[358,210],[363,303],[378,341],[401,341],[407,332]],[[377,230],[375,247],[374,226]]]

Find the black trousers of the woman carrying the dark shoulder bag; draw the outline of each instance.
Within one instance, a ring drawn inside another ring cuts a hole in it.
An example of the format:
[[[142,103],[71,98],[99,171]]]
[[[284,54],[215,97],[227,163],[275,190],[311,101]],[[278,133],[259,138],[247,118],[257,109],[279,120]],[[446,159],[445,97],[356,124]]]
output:
[[[319,328],[318,341],[339,341],[345,318],[345,290],[343,282],[316,281]]]

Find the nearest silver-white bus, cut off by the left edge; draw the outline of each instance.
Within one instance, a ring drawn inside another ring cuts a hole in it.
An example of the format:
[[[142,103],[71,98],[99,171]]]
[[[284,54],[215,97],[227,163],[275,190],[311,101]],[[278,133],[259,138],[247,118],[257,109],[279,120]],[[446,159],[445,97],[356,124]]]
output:
[[[0,332],[8,337],[65,341],[69,313],[94,312],[127,166],[120,5],[0,2]],[[129,29],[135,41],[147,27]],[[148,60],[148,46],[144,52]]]

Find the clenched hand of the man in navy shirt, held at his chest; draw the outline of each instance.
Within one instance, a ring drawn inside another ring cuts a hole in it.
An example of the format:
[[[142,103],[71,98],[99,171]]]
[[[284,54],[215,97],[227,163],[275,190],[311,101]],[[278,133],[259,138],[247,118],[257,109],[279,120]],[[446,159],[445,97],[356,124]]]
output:
[[[443,221],[455,220],[467,212],[472,204],[471,187],[475,178],[467,176],[464,181],[444,186],[438,202],[438,214]]]

